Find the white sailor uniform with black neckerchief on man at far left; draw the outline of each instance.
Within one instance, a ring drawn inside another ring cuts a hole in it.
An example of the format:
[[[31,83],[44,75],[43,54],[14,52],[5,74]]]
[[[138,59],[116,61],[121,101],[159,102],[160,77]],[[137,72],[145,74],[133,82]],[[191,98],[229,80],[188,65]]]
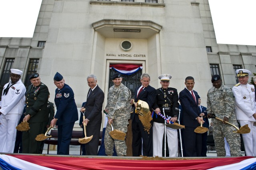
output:
[[[10,85],[12,82],[9,82]],[[4,89],[8,86],[4,85]],[[3,89],[3,93],[4,93]],[[26,87],[19,80],[10,87],[7,95],[2,94],[0,106],[0,152],[13,153],[16,140],[16,126],[25,106]]]

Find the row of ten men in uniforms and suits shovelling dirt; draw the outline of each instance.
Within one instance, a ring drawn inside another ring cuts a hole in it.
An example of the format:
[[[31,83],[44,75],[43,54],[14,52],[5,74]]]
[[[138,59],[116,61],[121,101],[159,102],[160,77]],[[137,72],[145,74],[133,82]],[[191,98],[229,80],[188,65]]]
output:
[[[48,127],[58,128],[57,154],[69,154],[69,144],[75,121],[78,120],[77,106],[74,92],[65,83],[60,73],[54,76],[55,105],[48,101],[48,87],[41,82],[38,73],[30,76],[31,85],[27,91],[20,80],[22,71],[10,70],[10,82],[4,85],[2,101],[0,103],[0,152],[12,153],[15,148],[16,126],[19,120],[29,123],[30,129],[22,133],[22,153],[40,154],[43,150],[43,141],[36,141],[38,134],[44,134]],[[178,151],[178,132],[170,127],[164,128],[164,120],[159,113],[169,121],[177,122],[185,128],[181,130],[182,148],[184,156],[206,156],[207,132],[200,134],[194,132],[200,123],[209,127],[207,118],[216,116],[224,122],[212,118],[213,136],[217,156],[225,156],[224,137],[230,146],[231,156],[242,156],[240,150],[240,136],[233,133],[234,127],[248,125],[250,133],[242,134],[247,156],[256,156],[256,102],[254,85],[248,83],[250,71],[238,69],[236,71],[239,83],[232,89],[222,84],[220,75],[212,76],[212,85],[207,93],[207,109],[200,105],[201,99],[193,90],[195,81],[191,76],[185,79],[185,88],[178,94],[177,89],[169,87],[169,74],[160,75],[161,87],[154,89],[150,84],[150,76],[143,73],[140,77],[141,86],[136,87],[134,97],[131,91],[122,84],[122,75],[114,73],[114,85],[108,91],[108,102],[104,109],[108,123],[104,136],[105,153],[113,155],[113,148],[118,156],[126,156],[127,146],[125,141],[113,139],[109,132],[113,127],[124,133],[128,132],[128,125],[132,127],[132,156],[162,156],[163,136],[166,130],[168,153],[170,157],[176,156]],[[256,76],[254,77],[256,82]],[[90,142],[85,144],[86,155],[97,155],[100,128],[102,124],[102,106],[104,92],[97,85],[95,75],[88,75],[87,83],[90,87],[86,102],[80,112],[86,119],[81,120],[80,126],[86,125],[87,136],[93,135]],[[130,113],[130,107],[137,107],[138,100],[148,103],[152,112],[152,127],[145,131],[138,114]],[[24,109],[25,105],[25,109]],[[23,117],[22,117],[23,115]],[[22,118],[21,118],[22,117]],[[18,134],[17,134],[18,138]],[[18,145],[19,148],[19,145]],[[16,149],[17,150],[17,149]]]

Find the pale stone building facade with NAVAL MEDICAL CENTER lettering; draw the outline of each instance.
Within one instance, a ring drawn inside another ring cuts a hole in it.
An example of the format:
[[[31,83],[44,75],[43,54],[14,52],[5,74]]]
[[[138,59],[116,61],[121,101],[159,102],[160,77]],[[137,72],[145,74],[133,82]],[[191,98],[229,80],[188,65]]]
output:
[[[219,73],[232,87],[235,69],[256,73],[256,46],[216,43],[208,0],[128,1],[42,0],[33,38],[0,38],[0,84],[9,67],[24,71],[25,83],[38,72],[53,101],[58,71],[80,107],[88,92],[86,77],[95,74],[105,107],[109,65],[132,63],[142,65],[155,88],[162,73],[172,75],[170,85],[178,92],[187,76],[194,77],[206,105],[211,74]]]

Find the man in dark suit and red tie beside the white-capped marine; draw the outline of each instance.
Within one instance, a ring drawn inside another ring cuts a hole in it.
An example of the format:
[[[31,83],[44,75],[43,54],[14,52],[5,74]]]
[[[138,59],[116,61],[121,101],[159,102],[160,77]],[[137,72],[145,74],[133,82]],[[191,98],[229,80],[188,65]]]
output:
[[[140,77],[141,86],[136,87],[134,94],[134,102],[142,100],[148,103],[149,109],[152,109],[152,105],[156,99],[156,89],[149,85],[150,76],[147,73],[143,73]],[[130,101],[133,104],[133,99]],[[136,106],[135,106],[136,107]],[[132,119],[132,156],[140,156],[141,150],[144,156],[153,156],[153,141],[152,141],[152,126],[150,132],[146,132],[138,117],[134,112],[131,114]],[[152,125],[151,121],[151,125]],[[143,146],[142,146],[143,140]]]

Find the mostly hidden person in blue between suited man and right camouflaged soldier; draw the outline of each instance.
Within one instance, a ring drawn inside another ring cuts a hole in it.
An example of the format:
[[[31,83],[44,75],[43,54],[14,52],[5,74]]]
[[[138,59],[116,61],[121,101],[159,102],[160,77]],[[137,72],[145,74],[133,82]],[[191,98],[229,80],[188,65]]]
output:
[[[203,116],[203,120],[204,120],[204,124],[203,127],[209,128],[209,121],[207,117],[207,111],[206,111],[206,107],[201,105],[201,98],[198,95],[198,109],[200,111],[200,113],[204,113]],[[207,153],[207,135],[208,135],[208,131],[202,133],[202,152],[201,152],[201,156],[206,156]]]

